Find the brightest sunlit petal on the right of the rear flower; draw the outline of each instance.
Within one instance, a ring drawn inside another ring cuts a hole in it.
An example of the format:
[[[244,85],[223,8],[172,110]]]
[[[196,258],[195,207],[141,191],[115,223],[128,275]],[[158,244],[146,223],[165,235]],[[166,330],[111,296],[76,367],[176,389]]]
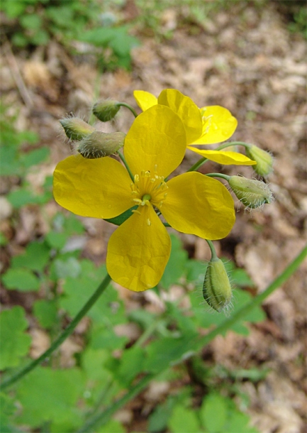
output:
[[[203,116],[203,132],[201,137],[193,141],[193,144],[221,143],[228,140],[235,132],[238,121],[223,106],[203,106],[200,111]]]

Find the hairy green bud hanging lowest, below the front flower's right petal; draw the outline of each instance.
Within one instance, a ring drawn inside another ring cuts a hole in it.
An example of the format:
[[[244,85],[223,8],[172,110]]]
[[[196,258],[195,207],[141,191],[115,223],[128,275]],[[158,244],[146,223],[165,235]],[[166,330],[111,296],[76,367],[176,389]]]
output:
[[[221,312],[230,303],[231,285],[220,258],[211,258],[203,282],[203,299],[217,312]]]

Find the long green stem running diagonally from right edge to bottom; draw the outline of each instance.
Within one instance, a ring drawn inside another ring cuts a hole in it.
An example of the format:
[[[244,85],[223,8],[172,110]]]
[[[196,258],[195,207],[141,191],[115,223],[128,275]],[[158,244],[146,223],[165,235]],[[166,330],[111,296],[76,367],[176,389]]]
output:
[[[286,269],[267,287],[264,292],[257,295],[253,300],[251,300],[247,305],[239,309],[238,312],[233,314],[232,317],[229,319],[226,319],[222,324],[220,324],[218,327],[213,329],[213,331],[209,332],[206,336],[201,337],[200,339],[196,339],[195,344],[195,351],[199,351],[203,348],[203,346],[206,346],[206,344],[209,344],[210,341],[212,341],[218,334],[221,334],[223,331],[227,331],[233,324],[238,322],[239,319],[243,319],[246,317],[246,315],[257,305],[260,305],[262,301],[271,295],[274,290],[276,290],[278,287],[280,287],[283,283],[288,280],[288,278],[296,271],[299,265],[303,262],[304,258],[307,256],[307,246],[302,249],[301,253],[294,258],[294,260],[286,267]],[[191,356],[193,356],[191,354]],[[187,358],[185,358],[186,360]],[[174,365],[172,363],[172,365]],[[168,368],[168,367],[167,367]],[[158,373],[160,374],[161,371]],[[150,383],[150,380],[155,378],[155,373],[147,373],[146,376],[144,376],[140,381],[134,385],[128,393],[123,395],[122,398],[119,398],[114,402],[112,405],[109,405],[104,412],[101,412],[98,415],[95,415],[94,417],[89,418],[87,422],[77,431],[77,433],[89,433],[93,430],[92,427],[94,425],[99,423],[99,426],[106,424],[108,420],[110,420],[111,416],[121,407],[123,407],[127,402],[132,400],[136,395],[138,395],[141,391],[143,391],[144,388]]]

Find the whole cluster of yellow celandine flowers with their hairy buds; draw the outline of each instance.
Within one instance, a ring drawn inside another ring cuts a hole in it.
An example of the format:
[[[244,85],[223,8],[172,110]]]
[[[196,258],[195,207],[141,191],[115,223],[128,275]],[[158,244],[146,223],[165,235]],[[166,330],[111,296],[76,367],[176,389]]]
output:
[[[196,148],[233,135],[237,121],[221,106],[199,109],[175,89],[163,90],[158,98],[143,91],[135,91],[134,96],[143,110],[138,116],[128,104],[111,100],[93,107],[99,120],[109,121],[121,106],[128,106],[136,119],[126,136],[96,131],[74,117],[61,121],[79,154],[55,168],[55,200],[74,214],[118,225],[108,241],[106,268],[116,283],[129,290],[150,289],[162,278],[171,251],[166,226],[206,239],[212,258],[203,297],[221,312],[230,302],[231,288],[211,241],[227,236],[235,222],[228,189],[250,209],[272,202],[272,192],[259,180],[203,175],[196,170],[213,160],[223,165],[255,165],[264,176],[272,171],[272,156],[242,142],[225,143],[215,150]],[[224,150],[238,144],[245,146],[249,156]],[[201,160],[184,174],[170,176],[186,150],[198,153]],[[223,177],[228,187],[213,177]]]

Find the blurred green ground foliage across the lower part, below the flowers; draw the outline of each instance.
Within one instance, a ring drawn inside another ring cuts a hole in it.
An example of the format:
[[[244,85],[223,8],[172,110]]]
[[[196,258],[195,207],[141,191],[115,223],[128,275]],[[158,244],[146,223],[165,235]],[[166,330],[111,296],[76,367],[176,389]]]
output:
[[[30,242],[21,255],[12,259],[11,268],[2,277],[8,289],[22,292],[33,290],[33,287],[34,290],[44,287],[47,290],[46,299],[33,301],[32,312],[40,327],[51,334],[58,332],[63,314],[74,317],[79,312],[106,275],[105,266],[97,268],[87,259],[80,260],[77,249],[66,248],[71,236],[83,233],[84,226],[77,217],[56,214],[45,238]],[[252,286],[243,270],[235,268],[232,262],[225,265],[236,285]],[[195,374],[208,386],[208,395],[203,404],[199,409],[192,408],[191,388],[184,388],[178,395],[169,396],[165,402],[157,405],[150,415],[149,431],[159,432],[168,428],[169,432],[174,433],[232,431],[227,429],[255,432],[247,425],[248,417],[238,411],[232,400],[213,393],[211,389],[214,377],[220,377],[220,374],[227,378],[228,385],[223,390],[238,393],[238,381],[262,380],[267,372],[257,369],[219,372],[203,366],[201,358],[196,356],[199,351],[199,330],[225,319],[218,313],[207,314],[201,299],[197,297],[196,292],[203,283],[205,272],[206,263],[189,260],[181,241],[172,235],[169,265],[155,292],[169,290],[172,285],[182,285],[183,296],[189,297],[191,308],[184,310],[179,299],[166,302],[165,311],[160,314],[145,309],[132,310],[127,314],[118,291],[109,285],[104,295],[89,310],[91,324],[84,336],[84,349],[77,356],[77,366],[67,370],[50,366],[36,368],[17,383],[13,400],[10,400],[9,395],[4,395],[4,431],[16,432],[19,425],[39,432],[43,432],[46,426],[50,432],[77,431],[89,417],[95,415],[101,404],[103,407],[112,404],[123,390],[130,390],[144,373],[153,373],[163,380],[181,378],[185,371],[185,360],[193,356]],[[186,292],[186,287],[189,287],[190,293]],[[235,292],[235,309],[250,301],[251,296],[245,290],[238,288]],[[1,336],[4,344],[1,346],[4,356],[1,359],[5,369],[24,362],[30,349],[30,336],[25,332],[28,324],[21,307],[5,310],[2,317],[4,332]],[[261,309],[254,309],[245,321],[256,322],[263,317]],[[128,335],[118,334],[116,326],[121,325],[124,329],[125,325],[132,323],[137,324],[143,334],[131,345]],[[243,322],[234,326],[233,330],[248,333]],[[118,353],[121,353],[120,358]],[[53,358],[51,365],[56,359]],[[179,365],[182,367],[174,376],[172,366]],[[233,381],[237,383],[236,388],[231,385]],[[17,412],[13,402],[20,407]],[[218,420],[211,416],[217,411],[220,414]],[[95,431],[123,432],[124,429],[120,423],[109,421],[100,427],[97,424]]]

